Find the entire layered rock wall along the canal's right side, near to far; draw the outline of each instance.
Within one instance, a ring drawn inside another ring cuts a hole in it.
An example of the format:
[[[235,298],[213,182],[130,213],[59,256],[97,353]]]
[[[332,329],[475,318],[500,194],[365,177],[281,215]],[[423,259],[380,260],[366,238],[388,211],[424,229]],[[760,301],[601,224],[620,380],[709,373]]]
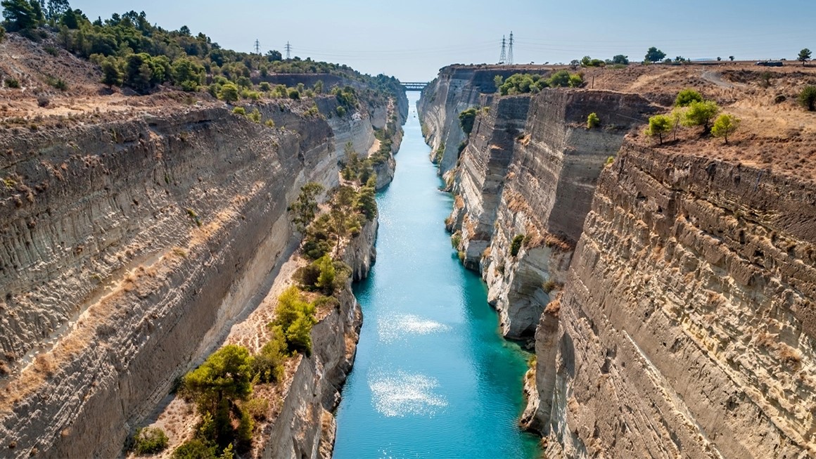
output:
[[[638,95],[462,98],[419,104],[433,147],[487,107],[446,224],[503,332],[534,333],[547,456],[814,456],[814,184],[641,146]]]

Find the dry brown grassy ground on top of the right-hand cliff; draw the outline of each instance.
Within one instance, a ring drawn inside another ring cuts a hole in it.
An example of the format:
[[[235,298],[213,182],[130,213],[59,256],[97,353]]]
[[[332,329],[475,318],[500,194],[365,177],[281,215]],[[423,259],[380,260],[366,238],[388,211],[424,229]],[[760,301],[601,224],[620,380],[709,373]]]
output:
[[[683,128],[676,141],[664,142],[661,149],[816,179],[816,113],[805,111],[796,101],[802,88],[816,85],[816,67],[791,64],[771,69],[724,63],[635,65],[587,72],[589,79],[594,77],[595,89],[637,93],[666,112],[677,91],[693,88],[716,100],[723,113],[742,120],[728,145],[722,139],[703,137],[700,128]],[[638,143],[654,144],[640,132],[630,136]]]

